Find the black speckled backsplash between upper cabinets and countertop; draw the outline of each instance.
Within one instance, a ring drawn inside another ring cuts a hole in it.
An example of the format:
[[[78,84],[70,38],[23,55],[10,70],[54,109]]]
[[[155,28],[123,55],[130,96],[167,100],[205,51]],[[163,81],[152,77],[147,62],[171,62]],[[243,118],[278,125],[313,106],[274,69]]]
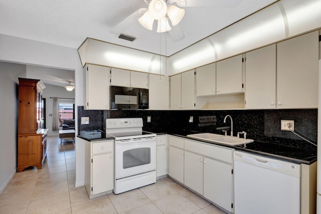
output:
[[[300,139],[290,131],[281,131],[281,120],[294,120],[295,131],[316,142],[317,109],[282,109],[282,110],[84,110],[78,106],[78,131],[104,130],[106,118],[141,117],[143,130],[155,133],[175,130],[192,130],[223,134],[230,133],[230,118],[233,119],[233,133],[246,131],[248,138],[263,140],[263,137],[281,137]],[[150,121],[147,123],[147,116]],[[190,117],[193,116],[193,122]],[[211,117],[206,117],[211,116]],[[81,125],[80,117],[90,117],[89,125]],[[204,118],[208,118],[205,121]],[[215,118],[215,119],[214,119]],[[200,120],[201,119],[201,120]]]

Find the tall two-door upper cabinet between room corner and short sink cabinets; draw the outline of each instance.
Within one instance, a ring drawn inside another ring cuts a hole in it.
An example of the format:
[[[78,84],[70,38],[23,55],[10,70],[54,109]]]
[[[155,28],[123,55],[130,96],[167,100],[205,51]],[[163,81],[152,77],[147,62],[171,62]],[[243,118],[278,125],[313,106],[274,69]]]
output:
[[[195,109],[195,71],[171,77],[171,109]]]

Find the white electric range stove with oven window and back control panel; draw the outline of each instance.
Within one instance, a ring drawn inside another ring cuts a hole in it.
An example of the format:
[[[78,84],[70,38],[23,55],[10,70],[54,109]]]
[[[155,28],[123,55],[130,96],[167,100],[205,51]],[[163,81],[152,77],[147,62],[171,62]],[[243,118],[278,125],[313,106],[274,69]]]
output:
[[[156,182],[156,134],[142,131],[142,118],[107,118],[114,137],[114,193]]]

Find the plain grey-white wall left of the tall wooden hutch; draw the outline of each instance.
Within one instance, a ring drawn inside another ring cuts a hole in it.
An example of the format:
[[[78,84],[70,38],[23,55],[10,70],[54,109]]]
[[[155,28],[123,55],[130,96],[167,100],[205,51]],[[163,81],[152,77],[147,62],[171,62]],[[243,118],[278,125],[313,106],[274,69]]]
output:
[[[18,75],[26,75],[26,66],[0,62],[0,193],[17,168]]]

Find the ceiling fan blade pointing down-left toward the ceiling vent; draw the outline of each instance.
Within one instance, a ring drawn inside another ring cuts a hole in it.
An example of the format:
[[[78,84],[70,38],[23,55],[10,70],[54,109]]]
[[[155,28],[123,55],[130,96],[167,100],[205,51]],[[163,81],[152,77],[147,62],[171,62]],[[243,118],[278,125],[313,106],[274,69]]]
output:
[[[136,22],[138,22],[138,18],[140,18],[145,12],[147,11],[147,8],[140,8],[131,15],[129,15],[127,18],[125,18],[123,21],[118,23],[115,27],[109,30],[109,33],[112,34],[120,34],[127,28],[129,28],[131,25],[134,25]]]

